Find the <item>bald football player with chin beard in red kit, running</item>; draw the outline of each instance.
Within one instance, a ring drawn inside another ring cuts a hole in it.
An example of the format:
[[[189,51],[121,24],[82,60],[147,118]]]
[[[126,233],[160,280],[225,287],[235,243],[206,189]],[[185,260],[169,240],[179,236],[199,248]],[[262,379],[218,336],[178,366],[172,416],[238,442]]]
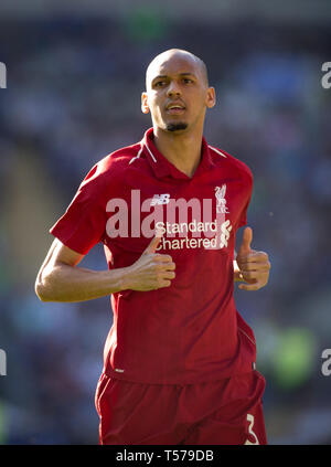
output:
[[[36,294],[45,301],[111,295],[114,322],[96,390],[100,444],[266,444],[265,379],[233,296],[234,282],[257,290],[269,277],[268,255],[250,247],[250,227],[235,257],[252,172],[203,137],[215,89],[201,59],[178,49],[161,53],[147,68],[141,97],[152,128],[83,180],[51,229],[55,241]],[[179,200],[190,209],[178,223]],[[205,205],[206,223],[194,211]],[[212,223],[216,233],[204,227]],[[189,224],[201,230],[174,230]],[[98,242],[108,270],[77,267]]]

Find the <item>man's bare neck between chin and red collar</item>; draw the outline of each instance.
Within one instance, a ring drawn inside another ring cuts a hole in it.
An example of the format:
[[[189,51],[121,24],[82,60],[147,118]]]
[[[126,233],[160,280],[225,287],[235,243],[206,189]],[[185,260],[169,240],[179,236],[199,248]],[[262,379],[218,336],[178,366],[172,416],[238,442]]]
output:
[[[158,150],[178,170],[193,177],[201,160],[202,130],[177,134],[154,127],[153,134]]]

